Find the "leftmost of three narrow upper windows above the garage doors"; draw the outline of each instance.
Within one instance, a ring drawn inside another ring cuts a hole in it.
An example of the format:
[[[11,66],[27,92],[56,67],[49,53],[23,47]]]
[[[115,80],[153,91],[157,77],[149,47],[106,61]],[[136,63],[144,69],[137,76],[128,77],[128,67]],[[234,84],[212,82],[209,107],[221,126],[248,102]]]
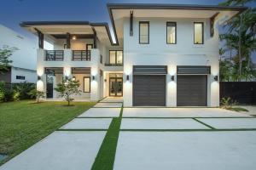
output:
[[[149,43],[149,22],[139,22],[139,42],[142,44]]]

